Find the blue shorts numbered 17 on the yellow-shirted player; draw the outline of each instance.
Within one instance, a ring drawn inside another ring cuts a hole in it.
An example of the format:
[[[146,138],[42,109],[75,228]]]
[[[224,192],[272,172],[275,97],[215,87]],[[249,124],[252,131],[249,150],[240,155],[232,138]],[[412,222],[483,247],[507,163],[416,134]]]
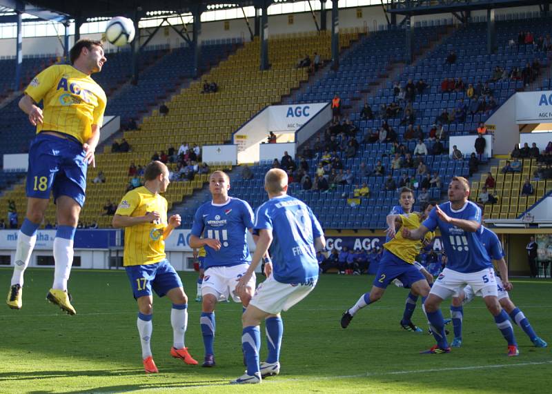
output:
[[[183,287],[177,271],[167,259],[144,266],[126,266],[125,269],[135,298],[152,295],[152,289],[163,297],[169,290]]]

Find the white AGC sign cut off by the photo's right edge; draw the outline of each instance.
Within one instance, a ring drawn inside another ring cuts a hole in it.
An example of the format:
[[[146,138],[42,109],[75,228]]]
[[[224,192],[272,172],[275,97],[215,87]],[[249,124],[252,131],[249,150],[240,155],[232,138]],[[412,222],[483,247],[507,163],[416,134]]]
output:
[[[552,91],[515,94],[515,123],[552,122]]]

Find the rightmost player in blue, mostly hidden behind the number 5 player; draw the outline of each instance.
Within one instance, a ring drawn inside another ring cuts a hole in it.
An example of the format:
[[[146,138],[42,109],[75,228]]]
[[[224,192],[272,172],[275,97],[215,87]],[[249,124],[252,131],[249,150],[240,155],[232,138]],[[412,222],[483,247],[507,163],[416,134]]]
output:
[[[508,280],[508,266],[506,266],[506,261],[504,261],[504,250],[502,249],[497,235],[489,230],[489,228],[481,226],[481,242],[491,259],[496,262],[500,272],[500,277],[496,278],[498,302],[500,302],[500,306],[510,315],[512,321],[522,328],[524,333],[527,334],[536,347],[545,348],[548,346],[546,342],[538,337],[531,323],[529,323],[529,319],[525,317],[524,313],[520,311],[520,308],[517,308],[510,299],[508,291],[511,290],[513,286]],[[475,293],[470,285],[460,290],[457,297],[453,297],[453,302],[451,304],[451,317],[453,318],[454,326],[454,339],[451,344],[453,348],[460,348],[460,346],[462,346],[463,305],[471,302],[474,297]]]

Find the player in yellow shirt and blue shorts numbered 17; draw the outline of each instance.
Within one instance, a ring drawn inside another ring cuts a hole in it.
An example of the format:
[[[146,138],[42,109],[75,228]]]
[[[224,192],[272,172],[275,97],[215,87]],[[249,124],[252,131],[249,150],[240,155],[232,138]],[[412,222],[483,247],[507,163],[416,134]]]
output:
[[[152,292],[166,295],[172,302],[170,324],[173,344],[170,355],[195,365],[184,346],[188,326],[188,297],[175,268],[165,254],[165,239],[180,226],[180,215],[167,220],[167,200],[164,193],[169,182],[168,168],[161,161],[152,161],[144,172],[144,186],[130,190],[121,200],[113,217],[113,227],[125,229],[123,263],[130,279],[132,293],[138,302],[138,332],[146,373],[157,373],[150,339],[152,333]]]

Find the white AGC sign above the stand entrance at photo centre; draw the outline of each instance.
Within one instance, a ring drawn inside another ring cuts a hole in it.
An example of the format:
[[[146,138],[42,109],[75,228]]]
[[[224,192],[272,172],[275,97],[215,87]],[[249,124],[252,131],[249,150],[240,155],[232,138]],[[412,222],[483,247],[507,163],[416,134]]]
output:
[[[268,131],[295,132],[327,105],[328,103],[270,106]]]

